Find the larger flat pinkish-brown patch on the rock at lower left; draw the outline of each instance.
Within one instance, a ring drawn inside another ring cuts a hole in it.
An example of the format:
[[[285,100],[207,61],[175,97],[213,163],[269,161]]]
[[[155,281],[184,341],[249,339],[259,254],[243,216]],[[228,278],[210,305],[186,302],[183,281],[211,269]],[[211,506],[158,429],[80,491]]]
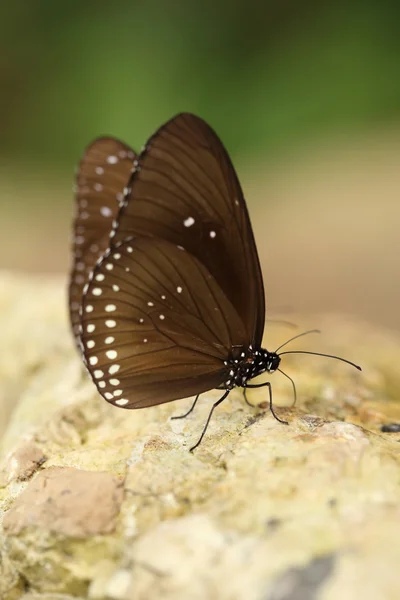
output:
[[[16,499],[4,517],[4,532],[39,527],[73,537],[111,533],[123,493],[123,481],[110,473],[50,467]]]

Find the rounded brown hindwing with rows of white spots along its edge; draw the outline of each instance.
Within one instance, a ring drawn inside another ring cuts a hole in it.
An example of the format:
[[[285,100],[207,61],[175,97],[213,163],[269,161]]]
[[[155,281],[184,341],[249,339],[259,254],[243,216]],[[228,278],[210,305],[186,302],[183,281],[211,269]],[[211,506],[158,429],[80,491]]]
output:
[[[125,408],[229,382],[228,357],[249,344],[208,269],[154,238],[128,240],[104,254],[84,292],[81,326],[81,349],[98,391]]]

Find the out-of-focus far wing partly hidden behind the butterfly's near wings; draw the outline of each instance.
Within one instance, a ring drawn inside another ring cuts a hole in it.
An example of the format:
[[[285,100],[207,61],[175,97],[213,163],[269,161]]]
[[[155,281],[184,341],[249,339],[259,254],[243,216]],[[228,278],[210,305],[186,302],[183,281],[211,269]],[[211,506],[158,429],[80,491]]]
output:
[[[108,247],[134,158],[135,153],[129,146],[103,137],[88,146],[79,164],[69,287],[70,321],[76,340],[82,289],[97,259]]]

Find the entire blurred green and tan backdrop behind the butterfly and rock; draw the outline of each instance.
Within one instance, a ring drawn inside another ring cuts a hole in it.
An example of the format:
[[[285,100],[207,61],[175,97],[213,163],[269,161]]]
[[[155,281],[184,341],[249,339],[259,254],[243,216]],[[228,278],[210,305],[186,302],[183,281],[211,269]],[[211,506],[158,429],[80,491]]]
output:
[[[237,166],[269,303],[400,327],[397,1],[2,3],[0,267],[66,273],[84,147],[182,110]]]

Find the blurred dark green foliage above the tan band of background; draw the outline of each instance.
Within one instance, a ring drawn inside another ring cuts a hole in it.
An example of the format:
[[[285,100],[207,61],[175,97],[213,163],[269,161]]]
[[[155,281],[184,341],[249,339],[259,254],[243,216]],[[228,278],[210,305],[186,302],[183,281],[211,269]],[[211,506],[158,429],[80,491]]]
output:
[[[70,172],[93,137],[137,147],[182,110],[248,155],[400,116],[397,0],[17,0],[0,10],[3,164]]]

